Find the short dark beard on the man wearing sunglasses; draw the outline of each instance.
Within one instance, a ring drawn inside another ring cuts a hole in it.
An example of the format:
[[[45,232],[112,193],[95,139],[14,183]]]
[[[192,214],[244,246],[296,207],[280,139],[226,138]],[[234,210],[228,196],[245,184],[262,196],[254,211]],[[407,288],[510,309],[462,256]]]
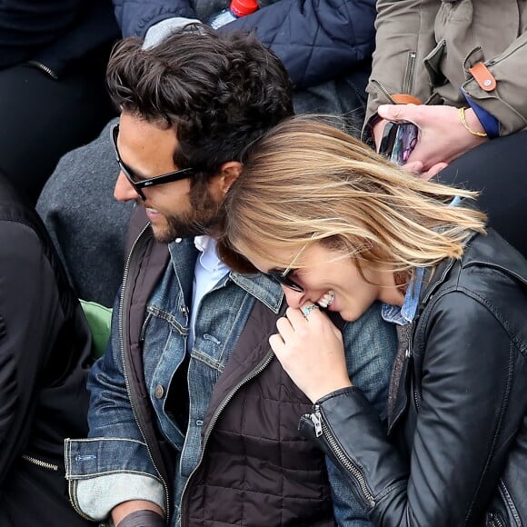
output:
[[[200,188],[201,187],[201,188]],[[179,216],[164,215],[166,225],[163,230],[154,230],[155,239],[162,244],[170,244],[176,238],[213,234],[221,223],[221,204],[214,202],[206,185],[196,184],[190,190],[191,212]]]

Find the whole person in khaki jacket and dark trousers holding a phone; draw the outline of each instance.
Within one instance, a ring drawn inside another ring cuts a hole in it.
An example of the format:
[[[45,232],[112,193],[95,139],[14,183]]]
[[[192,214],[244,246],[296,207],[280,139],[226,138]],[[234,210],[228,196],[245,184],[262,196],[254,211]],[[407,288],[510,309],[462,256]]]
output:
[[[527,2],[379,0],[377,12],[363,138],[378,148],[386,123],[416,124],[404,170],[480,191],[489,224],[527,255]]]

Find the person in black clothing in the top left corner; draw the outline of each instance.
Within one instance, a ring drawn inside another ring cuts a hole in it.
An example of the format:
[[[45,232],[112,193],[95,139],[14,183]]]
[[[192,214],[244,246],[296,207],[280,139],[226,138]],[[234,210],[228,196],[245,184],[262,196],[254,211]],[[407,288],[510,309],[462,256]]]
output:
[[[35,204],[60,157],[115,114],[110,0],[0,0],[0,174]]]

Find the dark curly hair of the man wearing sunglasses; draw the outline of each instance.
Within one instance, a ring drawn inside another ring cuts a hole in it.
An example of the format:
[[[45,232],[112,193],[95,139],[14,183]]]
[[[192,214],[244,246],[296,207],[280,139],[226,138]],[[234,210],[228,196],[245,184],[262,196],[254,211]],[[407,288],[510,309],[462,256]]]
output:
[[[293,114],[292,86],[280,59],[253,35],[185,25],[160,45],[125,38],[106,82],[114,104],[174,127],[174,163],[202,174],[239,160],[246,144]]]

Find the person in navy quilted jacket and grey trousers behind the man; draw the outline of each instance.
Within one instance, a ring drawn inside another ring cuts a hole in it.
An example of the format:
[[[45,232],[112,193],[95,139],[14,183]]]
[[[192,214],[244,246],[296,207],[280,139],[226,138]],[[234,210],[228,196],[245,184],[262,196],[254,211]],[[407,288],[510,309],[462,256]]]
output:
[[[144,38],[144,45],[181,25],[207,21],[229,4],[114,0],[122,35]],[[278,55],[293,82],[295,113],[343,114],[360,134],[375,44],[375,0],[258,0],[258,5],[217,31],[252,33]],[[93,142],[63,156],[37,204],[77,294],[106,306],[121,283],[125,225],[133,210],[112,199],[113,124],[114,119]]]

